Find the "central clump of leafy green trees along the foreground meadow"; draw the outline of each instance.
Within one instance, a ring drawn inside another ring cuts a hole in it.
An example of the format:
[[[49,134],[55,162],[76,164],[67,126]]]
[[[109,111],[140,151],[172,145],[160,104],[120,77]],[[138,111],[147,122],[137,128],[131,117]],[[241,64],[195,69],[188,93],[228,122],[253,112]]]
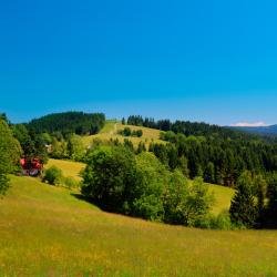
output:
[[[105,211],[196,226],[213,196],[201,178],[170,171],[153,153],[135,155],[124,145],[94,147],[86,156],[82,193]]]

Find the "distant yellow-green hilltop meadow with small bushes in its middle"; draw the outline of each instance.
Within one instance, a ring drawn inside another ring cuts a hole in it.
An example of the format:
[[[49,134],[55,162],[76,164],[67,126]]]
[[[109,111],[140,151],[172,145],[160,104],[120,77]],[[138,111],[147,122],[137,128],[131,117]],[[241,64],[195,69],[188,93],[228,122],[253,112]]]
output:
[[[126,136],[117,134],[117,132],[123,130],[124,127],[130,127],[132,131],[133,130],[142,130],[143,135],[142,135],[142,137],[132,137],[132,136],[126,137]],[[101,132],[99,134],[83,136],[82,140],[83,140],[83,143],[86,147],[95,138],[101,140],[101,141],[110,141],[111,138],[113,138],[113,140],[117,138],[120,142],[123,142],[124,138],[127,138],[127,140],[132,141],[134,146],[137,146],[140,142],[144,142],[145,145],[148,146],[151,142],[165,143],[164,141],[160,140],[160,133],[161,133],[161,131],[154,130],[154,129],[132,126],[132,125],[122,125],[120,122],[116,122],[116,121],[107,121],[105,126],[101,130]]]

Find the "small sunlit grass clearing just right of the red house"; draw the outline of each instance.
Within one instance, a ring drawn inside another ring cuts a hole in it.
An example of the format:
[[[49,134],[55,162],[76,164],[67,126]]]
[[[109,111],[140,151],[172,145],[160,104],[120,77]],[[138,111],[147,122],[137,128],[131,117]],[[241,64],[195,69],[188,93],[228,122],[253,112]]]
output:
[[[80,172],[85,166],[83,163],[50,158],[48,164],[45,165],[45,168],[49,168],[52,165],[62,170],[63,175],[65,177],[71,176],[75,178],[76,181],[81,181]]]

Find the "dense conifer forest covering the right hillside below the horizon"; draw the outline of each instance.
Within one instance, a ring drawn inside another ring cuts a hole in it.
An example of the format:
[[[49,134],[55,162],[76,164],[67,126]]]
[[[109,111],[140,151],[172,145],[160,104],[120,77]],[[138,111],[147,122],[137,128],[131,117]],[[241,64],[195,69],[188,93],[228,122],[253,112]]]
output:
[[[163,164],[185,175],[204,177],[205,182],[234,186],[244,171],[256,174],[277,171],[277,143],[217,125],[130,116],[127,124],[164,131],[161,138],[167,145],[152,143],[153,152]]]

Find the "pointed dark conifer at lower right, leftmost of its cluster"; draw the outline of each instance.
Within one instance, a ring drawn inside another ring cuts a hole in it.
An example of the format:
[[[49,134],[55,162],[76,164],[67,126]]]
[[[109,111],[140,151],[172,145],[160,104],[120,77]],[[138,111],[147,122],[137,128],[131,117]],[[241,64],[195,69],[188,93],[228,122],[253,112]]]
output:
[[[252,228],[256,225],[258,211],[255,204],[254,182],[249,172],[244,172],[238,178],[229,213],[230,220],[238,226]]]

